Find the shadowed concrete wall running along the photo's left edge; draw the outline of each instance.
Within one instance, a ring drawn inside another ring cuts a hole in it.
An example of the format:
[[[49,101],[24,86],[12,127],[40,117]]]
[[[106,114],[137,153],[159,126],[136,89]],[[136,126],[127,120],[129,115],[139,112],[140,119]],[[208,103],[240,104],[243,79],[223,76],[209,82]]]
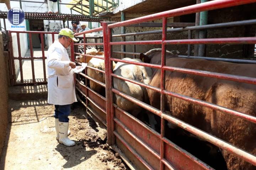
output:
[[[4,147],[7,129],[7,113],[8,113],[8,84],[7,84],[7,58],[3,54],[2,33],[0,32],[0,155]]]

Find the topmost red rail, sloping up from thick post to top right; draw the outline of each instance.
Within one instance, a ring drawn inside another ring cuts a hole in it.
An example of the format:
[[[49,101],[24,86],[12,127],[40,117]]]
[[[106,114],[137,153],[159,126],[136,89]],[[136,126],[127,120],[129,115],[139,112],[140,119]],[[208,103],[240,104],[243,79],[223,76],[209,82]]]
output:
[[[159,12],[152,15],[147,15],[139,18],[129,19],[126,21],[110,24],[108,25],[108,28],[123,27],[131,24],[148,22],[156,19],[162,19],[163,17],[169,18],[169,17],[181,16],[181,15],[186,15],[186,14],[196,13],[201,11],[209,11],[209,10],[215,10],[219,8],[249,4],[253,2],[256,2],[256,0],[239,0],[239,1],[238,0],[213,0],[213,1],[208,1],[201,4],[181,7],[174,10]]]

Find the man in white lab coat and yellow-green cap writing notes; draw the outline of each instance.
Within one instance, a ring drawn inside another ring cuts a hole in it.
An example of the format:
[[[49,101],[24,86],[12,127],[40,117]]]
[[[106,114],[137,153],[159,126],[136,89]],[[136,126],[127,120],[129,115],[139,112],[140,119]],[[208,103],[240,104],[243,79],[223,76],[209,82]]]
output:
[[[69,60],[66,51],[72,41],[78,41],[73,32],[68,28],[61,29],[58,40],[49,47],[47,55],[48,103],[55,106],[56,138],[66,146],[75,145],[75,142],[68,138],[70,106],[77,102],[73,76],[77,68],[76,64]]]

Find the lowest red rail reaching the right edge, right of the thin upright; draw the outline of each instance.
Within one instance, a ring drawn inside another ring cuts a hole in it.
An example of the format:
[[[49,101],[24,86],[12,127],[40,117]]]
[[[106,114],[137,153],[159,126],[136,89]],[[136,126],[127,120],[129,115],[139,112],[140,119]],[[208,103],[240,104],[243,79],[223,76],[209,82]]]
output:
[[[188,132],[191,132],[192,134],[198,136],[199,138],[201,138],[205,141],[208,141],[208,142],[214,144],[215,146],[220,147],[220,148],[224,149],[225,151],[228,151],[229,153],[232,153],[253,165],[256,165],[256,157],[254,155],[252,155],[246,151],[243,151],[243,150],[231,145],[230,143],[227,143],[215,136],[212,136],[212,135],[208,134],[207,132],[199,130],[199,129],[195,128],[194,126],[191,126],[175,117],[172,117],[171,115],[162,113],[161,117],[166,119],[167,121],[179,126],[180,128],[182,128]]]

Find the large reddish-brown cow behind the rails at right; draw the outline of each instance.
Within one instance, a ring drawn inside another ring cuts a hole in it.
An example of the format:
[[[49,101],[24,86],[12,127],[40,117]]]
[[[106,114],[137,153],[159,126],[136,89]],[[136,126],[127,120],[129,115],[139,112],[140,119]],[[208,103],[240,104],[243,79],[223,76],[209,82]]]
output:
[[[151,64],[161,64],[161,49],[141,54],[140,58]],[[256,78],[254,64],[185,59],[168,52],[166,66]],[[160,79],[160,70],[154,69],[150,85],[160,88]],[[165,86],[171,92],[256,116],[256,86],[252,84],[166,71]],[[160,109],[160,94],[148,90],[148,96],[151,106]],[[174,117],[256,155],[256,124],[175,97],[166,95],[165,100],[166,111],[170,111]],[[256,169],[254,165],[233,154],[224,150],[221,152],[229,170]]]

